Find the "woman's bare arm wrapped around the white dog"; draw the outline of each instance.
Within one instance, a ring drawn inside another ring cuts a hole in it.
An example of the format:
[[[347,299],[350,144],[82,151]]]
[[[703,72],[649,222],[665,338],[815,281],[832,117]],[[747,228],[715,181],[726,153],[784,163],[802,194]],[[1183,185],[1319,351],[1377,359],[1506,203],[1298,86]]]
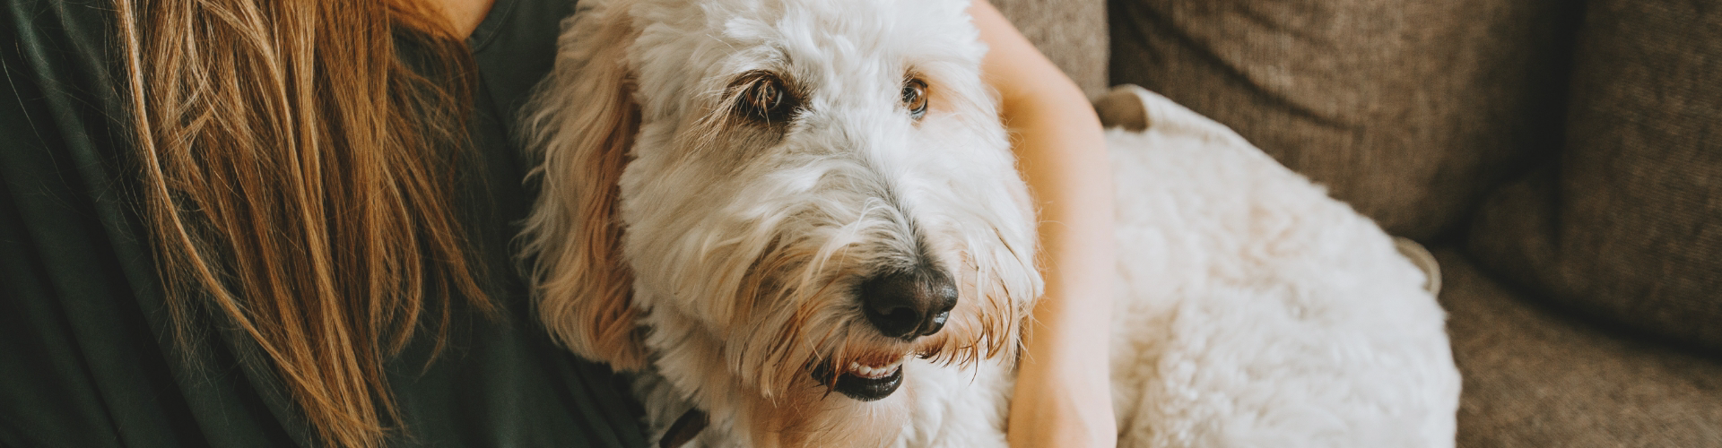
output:
[[[969,7],[992,50],[1018,169],[1040,208],[1047,293],[1023,336],[1011,446],[1112,446],[1112,169],[1087,96],[985,0]]]

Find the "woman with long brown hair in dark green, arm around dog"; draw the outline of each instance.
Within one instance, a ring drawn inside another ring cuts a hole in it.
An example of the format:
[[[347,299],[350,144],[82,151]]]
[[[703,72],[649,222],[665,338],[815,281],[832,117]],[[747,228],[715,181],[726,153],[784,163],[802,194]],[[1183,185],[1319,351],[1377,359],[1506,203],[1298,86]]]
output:
[[[508,253],[511,110],[570,12],[5,0],[0,445],[642,445],[625,388],[532,324]],[[1057,222],[1011,441],[1109,446],[1099,124],[973,12]]]

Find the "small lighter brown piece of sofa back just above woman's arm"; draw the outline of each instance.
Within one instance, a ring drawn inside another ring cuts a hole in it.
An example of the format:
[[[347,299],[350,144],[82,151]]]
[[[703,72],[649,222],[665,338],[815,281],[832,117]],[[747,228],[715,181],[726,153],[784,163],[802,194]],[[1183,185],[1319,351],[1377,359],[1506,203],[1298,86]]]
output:
[[[1106,93],[1106,0],[992,0],[1090,98]]]

